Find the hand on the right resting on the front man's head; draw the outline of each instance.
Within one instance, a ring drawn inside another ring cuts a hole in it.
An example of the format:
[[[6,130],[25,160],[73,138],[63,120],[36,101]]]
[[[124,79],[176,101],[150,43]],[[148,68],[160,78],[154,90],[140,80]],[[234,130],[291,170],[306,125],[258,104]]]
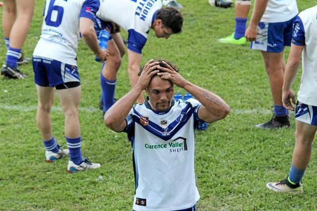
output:
[[[158,66],[159,70],[164,71],[164,73],[158,73],[158,76],[166,80],[171,80],[176,86],[183,88],[188,81],[181,77],[168,63],[165,61],[162,62],[167,68]]]

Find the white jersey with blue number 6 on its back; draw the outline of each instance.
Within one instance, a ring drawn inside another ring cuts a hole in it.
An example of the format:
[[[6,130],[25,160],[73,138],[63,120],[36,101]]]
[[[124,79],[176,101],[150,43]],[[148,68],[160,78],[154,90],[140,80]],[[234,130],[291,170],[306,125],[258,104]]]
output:
[[[77,66],[79,18],[94,21],[99,0],[46,0],[40,40],[34,56]]]

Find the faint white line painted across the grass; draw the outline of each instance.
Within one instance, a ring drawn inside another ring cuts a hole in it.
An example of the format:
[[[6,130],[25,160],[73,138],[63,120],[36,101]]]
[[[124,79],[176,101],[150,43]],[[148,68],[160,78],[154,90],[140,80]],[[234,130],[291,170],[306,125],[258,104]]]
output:
[[[23,111],[23,112],[28,112],[28,111],[36,111],[37,106],[17,106],[17,105],[5,105],[5,104],[0,104],[0,109],[1,110],[15,110],[15,111]],[[61,107],[53,106],[52,111],[61,111]],[[80,107],[79,106],[79,111],[81,112],[87,112],[87,113],[97,113],[100,112],[98,108],[95,107]],[[273,110],[272,109],[231,109],[231,112],[236,115],[266,115],[266,114],[272,114]]]

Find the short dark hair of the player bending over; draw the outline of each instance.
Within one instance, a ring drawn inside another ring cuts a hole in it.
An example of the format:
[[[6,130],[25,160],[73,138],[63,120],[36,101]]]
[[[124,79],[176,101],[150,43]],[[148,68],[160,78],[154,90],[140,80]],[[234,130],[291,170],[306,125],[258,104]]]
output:
[[[181,32],[183,16],[173,7],[164,7],[158,10],[155,19],[161,19],[164,26],[172,29],[174,34]]]

